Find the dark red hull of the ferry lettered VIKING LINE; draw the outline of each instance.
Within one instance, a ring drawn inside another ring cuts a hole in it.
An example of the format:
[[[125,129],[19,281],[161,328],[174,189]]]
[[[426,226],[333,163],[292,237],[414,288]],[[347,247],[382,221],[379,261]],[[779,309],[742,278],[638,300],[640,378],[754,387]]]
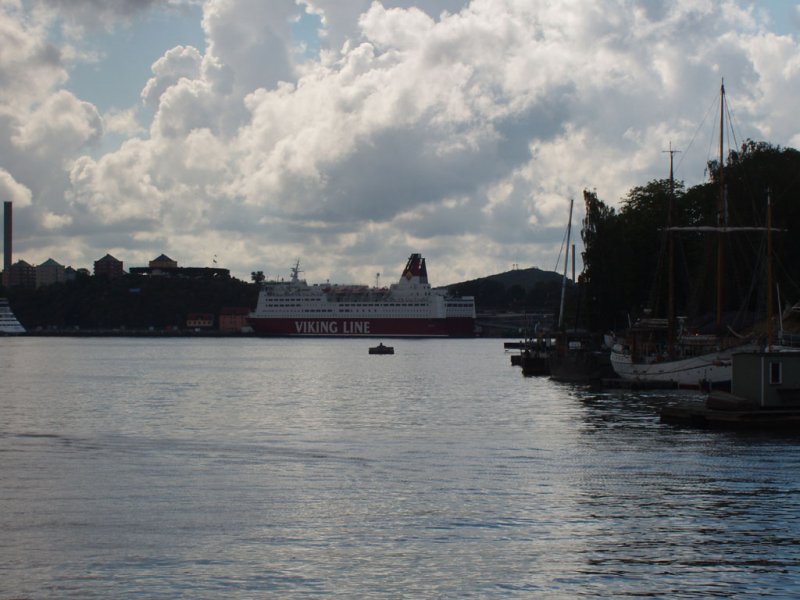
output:
[[[250,318],[259,335],[308,337],[472,336],[472,319]],[[452,322],[451,322],[452,321]]]

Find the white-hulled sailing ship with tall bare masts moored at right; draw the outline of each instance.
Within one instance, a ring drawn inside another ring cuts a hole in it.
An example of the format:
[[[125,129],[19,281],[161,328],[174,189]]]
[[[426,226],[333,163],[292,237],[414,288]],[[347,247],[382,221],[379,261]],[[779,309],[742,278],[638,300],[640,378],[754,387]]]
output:
[[[725,84],[720,87],[720,195],[717,205],[717,223],[714,227],[675,227],[672,224],[672,198],[668,216],[668,315],[657,318],[651,313],[639,319],[628,332],[625,341],[613,344],[611,364],[619,377],[639,382],[671,384],[689,388],[725,388],[732,377],[732,356],[738,352],[760,349],[758,340],[737,335],[722,335],[722,290],[723,290],[723,235],[732,231],[764,231],[759,227],[729,227],[726,222],[726,200],[724,188],[724,114]],[[670,183],[674,182],[670,151]],[[717,236],[716,275],[716,332],[694,334],[686,328],[685,319],[676,319],[674,301],[674,233],[677,231],[706,231]]]

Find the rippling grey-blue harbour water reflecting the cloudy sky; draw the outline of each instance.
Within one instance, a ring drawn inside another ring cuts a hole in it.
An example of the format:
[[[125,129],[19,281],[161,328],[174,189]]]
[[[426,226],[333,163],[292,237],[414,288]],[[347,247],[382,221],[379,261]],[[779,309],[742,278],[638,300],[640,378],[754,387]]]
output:
[[[0,339],[0,599],[800,595],[800,437],[372,343]]]

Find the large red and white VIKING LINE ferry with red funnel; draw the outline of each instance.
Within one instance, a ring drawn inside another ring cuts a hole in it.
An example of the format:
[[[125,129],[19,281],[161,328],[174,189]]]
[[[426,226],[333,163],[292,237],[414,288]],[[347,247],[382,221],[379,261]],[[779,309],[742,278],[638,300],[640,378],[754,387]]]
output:
[[[397,283],[386,287],[313,284],[300,278],[262,284],[248,322],[259,335],[324,337],[472,337],[475,299],[452,297],[428,283],[421,254],[412,254]]]

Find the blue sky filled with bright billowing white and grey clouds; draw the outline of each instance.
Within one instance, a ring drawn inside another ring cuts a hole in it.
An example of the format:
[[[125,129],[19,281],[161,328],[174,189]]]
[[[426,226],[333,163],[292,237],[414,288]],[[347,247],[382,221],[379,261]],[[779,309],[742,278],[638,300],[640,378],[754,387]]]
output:
[[[731,147],[800,147],[799,27],[782,0],[0,0],[14,260],[560,269],[584,189],[618,206],[670,147],[705,180],[723,79]]]

